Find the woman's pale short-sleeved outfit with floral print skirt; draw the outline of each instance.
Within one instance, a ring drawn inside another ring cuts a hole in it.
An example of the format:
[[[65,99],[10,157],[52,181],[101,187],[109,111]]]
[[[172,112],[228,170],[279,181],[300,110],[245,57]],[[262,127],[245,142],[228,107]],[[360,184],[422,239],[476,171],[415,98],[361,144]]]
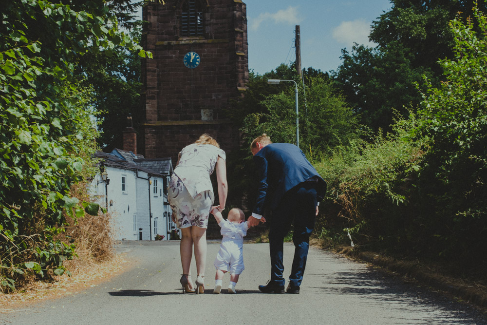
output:
[[[169,181],[169,204],[179,228],[207,228],[215,200],[210,175],[225,152],[210,144],[190,144],[180,152],[179,163]]]

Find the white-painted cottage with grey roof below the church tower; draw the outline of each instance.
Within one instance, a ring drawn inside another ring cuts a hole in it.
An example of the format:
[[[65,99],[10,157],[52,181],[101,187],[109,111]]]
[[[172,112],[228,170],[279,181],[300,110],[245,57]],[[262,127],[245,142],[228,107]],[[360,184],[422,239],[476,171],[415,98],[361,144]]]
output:
[[[155,240],[160,235],[170,240],[181,235],[168,202],[170,158],[145,159],[120,149],[94,156],[103,172],[94,178],[91,193],[111,213],[114,239]]]

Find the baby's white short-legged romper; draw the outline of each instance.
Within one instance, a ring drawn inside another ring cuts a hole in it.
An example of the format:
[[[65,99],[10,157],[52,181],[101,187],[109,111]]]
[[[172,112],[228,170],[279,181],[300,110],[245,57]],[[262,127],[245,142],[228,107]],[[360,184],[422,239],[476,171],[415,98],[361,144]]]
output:
[[[244,270],[244,237],[247,235],[248,224],[235,224],[224,219],[218,226],[222,228],[223,238],[213,265],[217,270],[241,274]]]

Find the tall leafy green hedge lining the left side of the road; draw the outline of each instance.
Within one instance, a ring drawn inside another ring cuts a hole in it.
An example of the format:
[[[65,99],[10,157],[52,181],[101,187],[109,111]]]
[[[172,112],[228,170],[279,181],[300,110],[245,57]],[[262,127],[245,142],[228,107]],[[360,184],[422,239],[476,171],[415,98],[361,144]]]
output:
[[[25,273],[62,274],[74,254],[73,244],[56,239],[63,212],[97,210],[68,195],[96,135],[86,104],[91,89],[74,73],[79,59],[119,44],[139,48],[118,31],[106,1],[65,3],[2,0],[0,291]]]

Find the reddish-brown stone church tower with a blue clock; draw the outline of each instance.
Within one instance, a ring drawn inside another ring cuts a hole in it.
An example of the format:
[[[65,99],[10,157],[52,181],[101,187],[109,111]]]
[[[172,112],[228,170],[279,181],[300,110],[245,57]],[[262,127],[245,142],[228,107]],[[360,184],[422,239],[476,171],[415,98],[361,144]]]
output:
[[[241,0],[165,0],[142,11],[143,110],[139,153],[172,157],[199,135],[214,136],[225,151],[239,132],[225,116],[248,81],[246,5]]]

